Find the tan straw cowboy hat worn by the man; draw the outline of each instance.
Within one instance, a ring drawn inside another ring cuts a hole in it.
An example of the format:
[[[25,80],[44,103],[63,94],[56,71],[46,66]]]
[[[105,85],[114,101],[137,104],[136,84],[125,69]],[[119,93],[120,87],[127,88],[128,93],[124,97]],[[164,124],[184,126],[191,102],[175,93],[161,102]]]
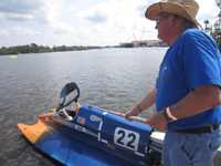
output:
[[[196,20],[198,10],[199,4],[194,0],[167,0],[148,7],[145,17],[149,20],[156,20],[160,13],[167,12],[182,17],[199,25]]]

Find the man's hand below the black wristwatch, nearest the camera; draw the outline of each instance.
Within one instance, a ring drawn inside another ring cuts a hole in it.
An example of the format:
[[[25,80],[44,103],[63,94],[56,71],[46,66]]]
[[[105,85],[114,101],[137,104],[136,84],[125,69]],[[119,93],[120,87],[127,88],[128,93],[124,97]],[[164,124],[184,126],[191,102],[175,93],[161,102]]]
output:
[[[150,126],[150,127],[155,127],[155,129],[161,131],[161,132],[164,132],[164,131],[167,129],[168,123],[167,123],[167,121],[165,120],[164,111],[160,111],[158,114],[156,114],[156,115],[150,120],[149,126]]]

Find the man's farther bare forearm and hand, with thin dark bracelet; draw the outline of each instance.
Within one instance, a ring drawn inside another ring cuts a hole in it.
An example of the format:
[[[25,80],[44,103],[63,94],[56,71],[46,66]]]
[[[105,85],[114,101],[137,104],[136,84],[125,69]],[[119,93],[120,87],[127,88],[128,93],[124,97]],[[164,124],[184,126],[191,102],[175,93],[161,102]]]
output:
[[[152,104],[155,104],[156,95],[157,95],[157,89],[155,87],[138,104],[140,111],[144,111],[144,110],[150,107]],[[128,120],[128,121],[131,121],[131,120],[128,118],[128,116],[137,116],[137,115],[139,115],[140,111],[139,111],[138,106],[136,105],[133,110],[128,111],[125,114],[125,118]]]

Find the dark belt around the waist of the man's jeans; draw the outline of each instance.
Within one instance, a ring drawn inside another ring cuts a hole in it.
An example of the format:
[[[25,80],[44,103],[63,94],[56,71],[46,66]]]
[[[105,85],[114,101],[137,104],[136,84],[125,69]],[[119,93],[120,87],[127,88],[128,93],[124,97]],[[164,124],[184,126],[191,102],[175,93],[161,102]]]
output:
[[[217,125],[212,125],[213,131],[215,131],[217,128],[219,128],[219,124]],[[200,126],[197,128],[189,128],[189,129],[181,129],[181,131],[175,131],[178,133],[188,133],[188,134],[204,134],[204,133],[212,133],[210,126]]]

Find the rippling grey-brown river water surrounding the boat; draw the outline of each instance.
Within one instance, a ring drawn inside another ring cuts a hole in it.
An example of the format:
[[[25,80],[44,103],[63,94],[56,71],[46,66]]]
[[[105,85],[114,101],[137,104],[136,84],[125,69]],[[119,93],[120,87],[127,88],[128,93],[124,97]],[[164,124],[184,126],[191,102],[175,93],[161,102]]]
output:
[[[27,142],[18,123],[35,124],[75,82],[80,104],[125,113],[155,86],[167,48],[102,49],[0,56],[0,165],[56,165]],[[150,118],[155,106],[140,114]]]

